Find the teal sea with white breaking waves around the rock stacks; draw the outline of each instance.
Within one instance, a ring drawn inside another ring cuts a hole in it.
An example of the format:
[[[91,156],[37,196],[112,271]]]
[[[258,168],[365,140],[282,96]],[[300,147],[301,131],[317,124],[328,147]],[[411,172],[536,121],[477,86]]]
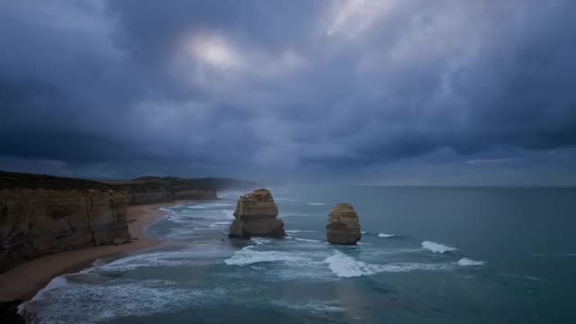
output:
[[[46,323],[575,323],[576,190],[271,188],[288,238],[230,240],[238,194],[169,209],[166,243],[58,277]],[[351,202],[361,245],[325,242]]]

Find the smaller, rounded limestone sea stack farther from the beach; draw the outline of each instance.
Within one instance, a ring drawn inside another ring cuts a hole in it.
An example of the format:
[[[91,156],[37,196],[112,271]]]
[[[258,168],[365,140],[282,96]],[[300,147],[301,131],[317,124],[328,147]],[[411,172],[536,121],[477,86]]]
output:
[[[362,234],[358,214],[349,203],[338,203],[329,215],[326,237],[330,244],[356,245]]]

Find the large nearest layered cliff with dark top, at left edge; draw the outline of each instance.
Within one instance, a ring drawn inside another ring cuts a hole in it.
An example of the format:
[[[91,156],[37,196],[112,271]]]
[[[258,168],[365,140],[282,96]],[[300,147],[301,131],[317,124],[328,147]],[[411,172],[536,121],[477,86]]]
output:
[[[93,181],[0,172],[0,273],[50,252],[130,241],[128,194]]]

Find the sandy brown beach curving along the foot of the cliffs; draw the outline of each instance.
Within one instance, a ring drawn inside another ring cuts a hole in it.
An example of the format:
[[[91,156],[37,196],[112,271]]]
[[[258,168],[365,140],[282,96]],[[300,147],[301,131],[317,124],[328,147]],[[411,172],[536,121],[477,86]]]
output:
[[[74,250],[52,253],[43,257],[32,259],[0,274],[0,301],[14,301],[15,299],[27,302],[36,293],[44,288],[58,275],[77,273],[99,258],[121,257],[131,252],[154,247],[162,243],[161,239],[150,238],[145,230],[166,211],[162,207],[171,207],[190,201],[158,202],[128,207],[128,230],[132,241],[120,246],[83,247]]]

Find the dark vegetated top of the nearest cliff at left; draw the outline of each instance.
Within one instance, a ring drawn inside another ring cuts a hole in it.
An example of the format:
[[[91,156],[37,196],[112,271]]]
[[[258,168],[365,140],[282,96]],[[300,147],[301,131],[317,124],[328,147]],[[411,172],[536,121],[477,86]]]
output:
[[[112,187],[95,181],[53,175],[33,175],[0,171],[0,189],[50,189],[108,191]]]

